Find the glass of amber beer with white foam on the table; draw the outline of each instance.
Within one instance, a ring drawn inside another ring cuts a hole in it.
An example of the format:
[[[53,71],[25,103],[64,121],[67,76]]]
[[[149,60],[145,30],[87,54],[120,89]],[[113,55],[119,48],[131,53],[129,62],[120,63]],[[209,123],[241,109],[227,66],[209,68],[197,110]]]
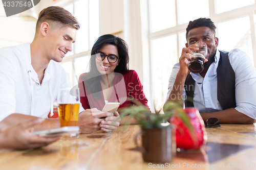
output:
[[[59,89],[57,94],[60,127],[77,126],[79,116],[79,88]],[[78,138],[79,134],[63,136],[62,139]]]

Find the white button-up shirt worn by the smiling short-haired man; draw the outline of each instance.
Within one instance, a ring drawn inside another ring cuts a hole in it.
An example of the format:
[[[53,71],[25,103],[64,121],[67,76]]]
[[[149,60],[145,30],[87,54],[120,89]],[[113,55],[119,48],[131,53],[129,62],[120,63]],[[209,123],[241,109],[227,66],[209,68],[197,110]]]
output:
[[[65,69],[52,60],[40,84],[30,53],[29,43],[0,49],[0,121],[12,113],[47,118],[58,89],[71,87]]]

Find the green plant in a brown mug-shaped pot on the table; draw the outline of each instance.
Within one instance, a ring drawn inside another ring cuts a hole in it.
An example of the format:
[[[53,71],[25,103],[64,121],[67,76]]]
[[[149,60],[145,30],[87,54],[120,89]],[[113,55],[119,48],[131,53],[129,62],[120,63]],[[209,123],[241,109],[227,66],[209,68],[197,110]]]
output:
[[[189,122],[189,117],[183,111],[181,106],[174,102],[168,102],[164,106],[164,113],[161,110],[155,110],[151,113],[148,108],[133,101],[137,106],[125,108],[121,111],[121,118],[130,115],[127,123],[134,118],[141,127],[141,132],[135,136],[137,148],[142,152],[144,161],[148,162],[170,162],[173,153],[176,153],[175,135],[173,135],[172,126],[162,126],[163,120],[169,120],[176,115],[192,131],[193,128]],[[142,146],[137,144],[138,135],[142,136]],[[174,138],[173,138],[174,137]]]

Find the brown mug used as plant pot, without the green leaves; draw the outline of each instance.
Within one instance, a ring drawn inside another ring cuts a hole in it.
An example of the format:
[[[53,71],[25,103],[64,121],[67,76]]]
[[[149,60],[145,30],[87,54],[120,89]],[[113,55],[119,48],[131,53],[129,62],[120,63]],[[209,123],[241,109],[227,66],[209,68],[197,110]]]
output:
[[[175,139],[173,140],[171,126],[161,129],[141,129],[135,136],[135,144],[144,161],[166,163],[172,161],[176,153]],[[137,143],[138,136],[142,137],[142,146]]]

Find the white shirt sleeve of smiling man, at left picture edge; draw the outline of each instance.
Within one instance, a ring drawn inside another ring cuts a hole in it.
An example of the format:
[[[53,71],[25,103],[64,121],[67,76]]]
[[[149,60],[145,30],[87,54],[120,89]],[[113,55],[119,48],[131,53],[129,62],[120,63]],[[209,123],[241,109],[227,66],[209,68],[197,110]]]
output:
[[[0,121],[15,113],[19,61],[9,50],[0,51]]]

